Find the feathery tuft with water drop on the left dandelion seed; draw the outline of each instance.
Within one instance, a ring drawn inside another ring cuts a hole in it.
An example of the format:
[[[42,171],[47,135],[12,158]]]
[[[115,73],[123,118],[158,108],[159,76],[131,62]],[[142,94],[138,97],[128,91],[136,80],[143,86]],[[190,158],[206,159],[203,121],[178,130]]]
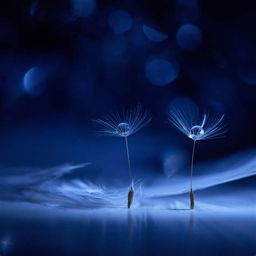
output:
[[[142,110],[142,105],[138,104],[134,108],[123,108],[122,114],[118,112],[102,117],[102,119],[92,120],[97,131],[97,136],[119,136],[127,137],[134,132],[137,132],[147,125],[152,120],[149,110]]]

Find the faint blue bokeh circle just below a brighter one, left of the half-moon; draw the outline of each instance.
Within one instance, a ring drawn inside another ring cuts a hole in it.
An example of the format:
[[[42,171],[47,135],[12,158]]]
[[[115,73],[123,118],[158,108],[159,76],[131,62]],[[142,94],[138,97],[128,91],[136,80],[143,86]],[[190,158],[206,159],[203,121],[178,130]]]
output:
[[[103,49],[108,55],[122,55],[127,49],[127,41],[124,35],[107,35],[103,41]]]

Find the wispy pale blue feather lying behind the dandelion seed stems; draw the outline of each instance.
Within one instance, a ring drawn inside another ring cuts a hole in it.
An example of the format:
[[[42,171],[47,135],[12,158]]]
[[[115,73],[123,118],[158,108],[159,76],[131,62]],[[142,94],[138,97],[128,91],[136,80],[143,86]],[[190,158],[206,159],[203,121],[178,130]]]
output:
[[[239,161],[237,161],[239,159]],[[194,166],[194,189],[193,191],[206,190],[206,188],[214,187],[220,184],[244,179],[246,177],[255,176],[255,150],[240,152],[224,159],[213,160],[211,162],[201,163]],[[79,179],[73,177],[71,180],[65,180],[63,177],[75,172],[81,168],[89,168],[89,164],[70,165],[51,167],[48,169],[9,169],[1,172],[0,185],[4,186],[5,193],[1,195],[2,200],[25,202],[48,205],[49,207],[65,207],[75,209],[86,208],[116,208],[126,205],[127,187],[105,187],[98,185],[88,179]],[[178,164],[178,168],[180,164]],[[1,170],[3,171],[3,169]],[[170,204],[176,207],[186,208],[188,205],[187,193],[189,191],[190,180],[189,172],[176,176],[175,179],[166,179],[166,177],[158,177],[153,179],[149,185],[141,189],[140,183],[134,185],[134,204],[133,208],[144,206],[146,208],[169,208]],[[34,184],[37,184],[35,187]],[[20,193],[15,188],[24,189],[24,193]],[[246,193],[246,191],[245,191]],[[167,196],[183,195],[184,198],[170,199]],[[255,193],[254,193],[255,194]],[[254,194],[246,197],[248,201],[254,198]],[[219,195],[221,195],[219,191]],[[238,194],[231,195],[233,199],[237,199]],[[245,198],[243,198],[245,200]],[[197,199],[197,207],[208,209],[220,209],[230,207],[226,197],[221,200],[211,201],[206,205],[203,203],[204,198]],[[252,201],[251,201],[252,204]],[[236,206],[236,207],[234,207]],[[253,212],[251,205],[234,205],[231,211]]]

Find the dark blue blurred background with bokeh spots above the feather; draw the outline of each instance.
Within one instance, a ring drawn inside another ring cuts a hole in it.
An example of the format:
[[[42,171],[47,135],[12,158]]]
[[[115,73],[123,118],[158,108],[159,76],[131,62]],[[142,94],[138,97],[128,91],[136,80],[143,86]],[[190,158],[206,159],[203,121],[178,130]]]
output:
[[[165,143],[191,146],[165,123],[171,106],[226,114],[227,137],[201,143],[199,160],[252,147],[253,7],[253,1],[4,1],[1,163],[94,161],[85,154],[87,138],[93,149],[99,143],[90,138],[91,119],[137,102],[154,119],[133,139],[151,145],[156,164]],[[140,139],[142,133],[148,136]],[[162,147],[150,142],[161,139]]]

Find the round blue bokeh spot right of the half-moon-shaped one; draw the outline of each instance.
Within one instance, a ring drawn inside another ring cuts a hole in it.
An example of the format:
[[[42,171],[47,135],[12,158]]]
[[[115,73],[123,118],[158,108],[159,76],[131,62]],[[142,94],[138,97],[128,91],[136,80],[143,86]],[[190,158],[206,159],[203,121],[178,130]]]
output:
[[[176,42],[184,50],[192,51],[199,48],[202,43],[202,33],[192,24],[181,26],[176,33]]]

